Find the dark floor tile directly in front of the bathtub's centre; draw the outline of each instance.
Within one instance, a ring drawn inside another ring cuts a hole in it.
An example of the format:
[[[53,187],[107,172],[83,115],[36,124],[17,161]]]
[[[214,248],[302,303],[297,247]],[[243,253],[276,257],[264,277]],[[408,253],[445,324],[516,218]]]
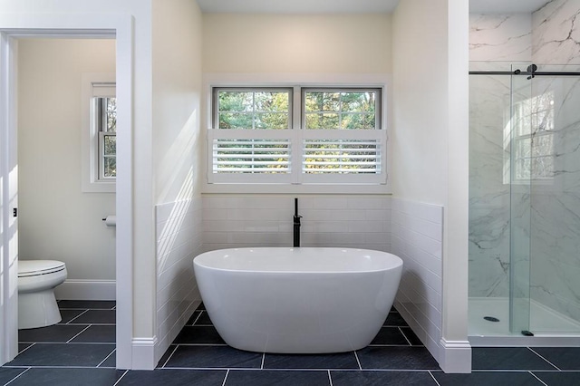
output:
[[[324,354],[273,354],[266,353],[265,369],[359,369],[354,352]]]

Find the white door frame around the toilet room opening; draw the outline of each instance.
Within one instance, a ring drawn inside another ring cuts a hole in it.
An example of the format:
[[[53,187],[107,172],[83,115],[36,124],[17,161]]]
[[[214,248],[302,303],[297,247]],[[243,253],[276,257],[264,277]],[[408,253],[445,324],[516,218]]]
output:
[[[17,229],[8,201],[17,189],[15,43],[24,36],[107,36],[117,46],[116,356],[117,368],[133,367],[133,34],[133,17],[126,14],[0,14],[0,364],[18,353]]]

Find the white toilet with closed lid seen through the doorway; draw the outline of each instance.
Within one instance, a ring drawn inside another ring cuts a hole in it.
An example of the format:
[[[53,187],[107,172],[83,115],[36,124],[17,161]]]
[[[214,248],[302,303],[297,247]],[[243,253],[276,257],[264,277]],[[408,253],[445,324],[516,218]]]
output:
[[[54,287],[66,279],[66,265],[56,260],[18,261],[18,329],[59,323]]]

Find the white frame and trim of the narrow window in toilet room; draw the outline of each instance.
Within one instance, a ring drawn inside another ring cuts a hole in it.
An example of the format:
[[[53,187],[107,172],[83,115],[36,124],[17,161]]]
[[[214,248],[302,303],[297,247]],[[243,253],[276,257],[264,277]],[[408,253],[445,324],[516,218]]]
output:
[[[90,72],[82,74],[82,192],[114,193],[116,179],[102,176],[104,137],[99,128],[99,106],[95,97],[115,96],[115,74]]]

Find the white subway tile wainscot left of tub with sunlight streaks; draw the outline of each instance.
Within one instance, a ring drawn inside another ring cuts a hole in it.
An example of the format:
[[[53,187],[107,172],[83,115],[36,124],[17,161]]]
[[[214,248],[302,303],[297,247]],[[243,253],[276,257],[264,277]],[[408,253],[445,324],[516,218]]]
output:
[[[199,197],[155,207],[158,360],[201,303],[192,263],[201,250],[201,214]]]

